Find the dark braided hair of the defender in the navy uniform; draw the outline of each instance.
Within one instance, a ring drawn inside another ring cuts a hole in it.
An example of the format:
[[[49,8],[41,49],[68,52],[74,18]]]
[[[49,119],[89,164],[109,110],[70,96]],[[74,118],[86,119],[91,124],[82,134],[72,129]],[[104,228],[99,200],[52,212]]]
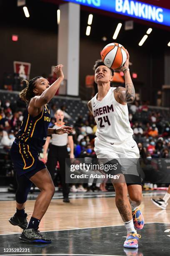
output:
[[[26,85],[26,88],[20,92],[21,100],[28,103],[30,101],[30,99],[35,96],[35,93],[33,92],[33,89],[35,87],[35,82],[39,78],[41,78],[41,77],[34,77],[29,82],[27,80],[22,81],[22,83],[24,85]]]

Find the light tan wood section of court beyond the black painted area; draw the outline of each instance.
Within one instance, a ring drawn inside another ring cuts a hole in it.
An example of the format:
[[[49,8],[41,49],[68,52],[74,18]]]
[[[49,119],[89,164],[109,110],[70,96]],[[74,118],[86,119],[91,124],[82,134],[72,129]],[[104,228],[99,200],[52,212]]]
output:
[[[161,210],[151,202],[150,195],[143,197],[140,205],[145,223],[169,223],[170,205]],[[158,198],[159,196],[153,196]],[[28,220],[32,215],[35,200],[28,200],[25,211]],[[15,201],[0,201],[0,234],[21,233],[21,228],[13,226],[8,219],[15,213]],[[120,214],[115,206],[115,197],[74,198],[70,203],[52,200],[40,223],[40,231],[74,230],[122,225]],[[125,231],[126,233],[126,231]]]

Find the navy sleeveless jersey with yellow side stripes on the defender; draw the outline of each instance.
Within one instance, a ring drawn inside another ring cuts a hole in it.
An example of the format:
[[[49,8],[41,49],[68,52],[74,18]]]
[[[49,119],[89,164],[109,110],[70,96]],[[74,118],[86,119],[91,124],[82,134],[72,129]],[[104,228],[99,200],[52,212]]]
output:
[[[27,109],[15,140],[21,146],[28,144],[30,148],[40,151],[45,144],[49,125],[50,110],[47,105],[42,107],[41,113],[36,117],[32,117]]]

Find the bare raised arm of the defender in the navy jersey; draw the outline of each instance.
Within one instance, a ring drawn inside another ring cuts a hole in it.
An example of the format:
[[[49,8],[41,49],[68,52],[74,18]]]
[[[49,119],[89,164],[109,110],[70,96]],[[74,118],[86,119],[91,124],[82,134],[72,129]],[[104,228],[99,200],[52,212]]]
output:
[[[41,95],[34,97],[31,101],[35,108],[41,108],[43,105],[50,102],[50,100],[55,96],[58,88],[60,87],[61,82],[64,79],[64,74],[62,72],[63,65],[60,64],[55,67],[55,73],[57,74],[58,79],[42,92]],[[43,84],[43,81],[41,82]],[[33,90],[36,93],[36,88]]]

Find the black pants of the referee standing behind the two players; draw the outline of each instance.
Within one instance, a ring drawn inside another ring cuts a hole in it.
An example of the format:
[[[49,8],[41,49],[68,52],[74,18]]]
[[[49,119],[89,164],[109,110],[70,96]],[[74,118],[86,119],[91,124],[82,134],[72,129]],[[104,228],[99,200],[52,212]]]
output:
[[[55,174],[55,166],[57,165],[57,161],[60,164],[60,177],[62,184],[62,194],[63,197],[68,197],[69,194],[69,184],[65,183],[65,159],[69,158],[67,152],[67,146],[55,146],[50,144],[49,152],[48,152],[48,160],[47,160],[47,169],[51,174],[52,180],[54,180]]]

